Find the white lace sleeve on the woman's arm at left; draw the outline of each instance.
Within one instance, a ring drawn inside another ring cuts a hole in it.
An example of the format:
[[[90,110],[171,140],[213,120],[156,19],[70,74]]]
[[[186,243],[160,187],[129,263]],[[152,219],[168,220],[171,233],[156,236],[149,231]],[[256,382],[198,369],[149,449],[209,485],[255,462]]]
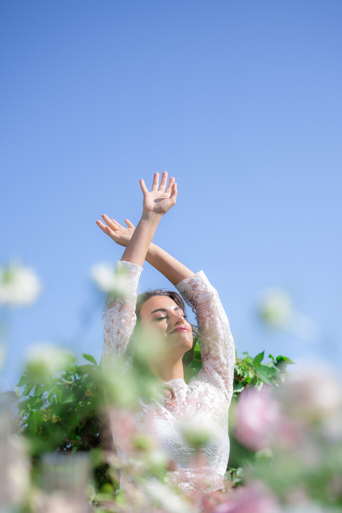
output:
[[[142,267],[120,260],[117,263],[117,294],[108,294],[103,312],[102,366],[118,363],[122,371],[131,363],[129,339],[136,325],[137,286]]]

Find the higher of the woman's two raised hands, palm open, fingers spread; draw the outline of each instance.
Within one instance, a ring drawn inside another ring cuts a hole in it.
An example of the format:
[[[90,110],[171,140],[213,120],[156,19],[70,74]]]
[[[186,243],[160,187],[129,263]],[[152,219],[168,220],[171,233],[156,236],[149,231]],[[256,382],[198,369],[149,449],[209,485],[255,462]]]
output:
[[[175,183],[174,177],[170,177],[168,186],[167,184],[167,172],[163,171],[160,185],[159,184],[159,173],[155,173],[152,189],[147,190],[145,182],[140,180],[140,187],[143,192],[143,212],[163,215],[176,203],[177,198],[177,184]],[[166,189],[166,190],[165,190]]]

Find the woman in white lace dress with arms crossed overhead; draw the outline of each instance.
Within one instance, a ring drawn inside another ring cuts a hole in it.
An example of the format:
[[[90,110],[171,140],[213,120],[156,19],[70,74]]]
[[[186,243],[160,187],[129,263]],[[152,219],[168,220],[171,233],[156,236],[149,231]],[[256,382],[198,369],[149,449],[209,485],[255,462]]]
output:
[[[201,340],[202,368],[188,384],[184,381],[182,358],[192,348],[192,326],[185,316],[182,299],[175,292],[160,295],[152,291],[143,295],[137,307],[143,333],[148,337],[158,334],[164,352],[149,362],[151,371],[165,385],[160,401],[139,401],[135,411],[136,426],[148,425],[159,441],[166,457],[172,462],[169,480],[181,490],[196,492],[200,487],[220,489],[229,457],[228,408],[233,393],[235,363],[234,342],[229,322],[217,291],[210,285],[203,271],[194,273],[151,241],[156,228],[175,203],[177,184],[173,177],[167,185],[163,172],[155,173],[153,186],[148,191],[140,180],[143,193],[143,213],[136,228],[126,220],[124,228],[103,215],[98,226],[116,243],[126,246],[117,273],[125,275],[125,297],[108,296],[103,310],[104,325],[103,365],[108,368],[113,360],[121,370],[131,365],[131,340],[134,331],[137,285],[146,260],[177,288],[185,302],[196,313]],[[174,295],[173,295],[174,294]],[[175,295],[176,294],[176,295]],[[113,439],[120,445],[120,422],[112,416]],[[117,424],[116,424],[117,420]],[[184,421],[193,425],[211,425],[212,438],[201,447],[200,455],[184,440]],[[122,449],[122,448],[121,448]],[[121,450],[121,457],[124,457]],[[129,477],[121,476],[121,487]]]

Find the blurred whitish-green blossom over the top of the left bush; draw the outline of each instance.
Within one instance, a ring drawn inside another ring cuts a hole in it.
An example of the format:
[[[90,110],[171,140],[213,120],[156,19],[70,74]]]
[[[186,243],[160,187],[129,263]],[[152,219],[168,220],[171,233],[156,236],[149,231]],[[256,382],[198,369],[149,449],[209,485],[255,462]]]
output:
[[[42,342],[29,347],[26,353],[27,371],[36,377],[61,372],[70,365],[70,355],[51,342]]]

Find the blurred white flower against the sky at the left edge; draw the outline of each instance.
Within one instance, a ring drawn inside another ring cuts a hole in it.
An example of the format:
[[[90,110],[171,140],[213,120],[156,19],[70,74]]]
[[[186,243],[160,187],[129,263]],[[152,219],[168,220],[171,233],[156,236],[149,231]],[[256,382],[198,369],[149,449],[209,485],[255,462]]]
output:
[[[18,262],[0,267],[0,304],[31,305],[36,301],[41,289],[41,282],[30,267],[24,267]]]

